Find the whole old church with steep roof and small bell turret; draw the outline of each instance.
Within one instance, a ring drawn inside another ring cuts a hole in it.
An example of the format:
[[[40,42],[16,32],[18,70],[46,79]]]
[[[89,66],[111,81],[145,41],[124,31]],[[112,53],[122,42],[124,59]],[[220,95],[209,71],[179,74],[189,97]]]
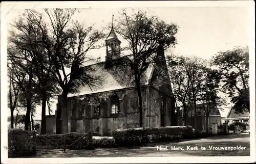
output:
[[[121,41],[113,26],[105,46],[105,61],[87,66],[92,68],[91,73],[97,75],[101,82],[94,88],[81,86],[76,95],[68,96],[69,132],[92,130],[94,135],[110,135],[114,129],[139,127],[139,99],[134,75],[112,64],[114,59],[124,58],[121,56]],[[163,49],[156,56],[165,59]],[[133,55],[125,57],[132,59]],[[164,60],[151,64],[142,76],[143,127],[171,125],[170,81],[168,76],[162,76],[166,70]],[[57,127],[56,133],[61,133]]]

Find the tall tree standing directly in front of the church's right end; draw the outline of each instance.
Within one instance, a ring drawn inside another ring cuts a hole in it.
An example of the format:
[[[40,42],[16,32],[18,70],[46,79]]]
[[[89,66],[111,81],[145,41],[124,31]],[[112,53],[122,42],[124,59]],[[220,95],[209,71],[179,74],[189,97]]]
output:
[[[126,56],[117,60],[116,63],[134,78],[139,99],[139,126],[142,127],[143,110],[140,89],[142,76],[151,64],[165,61],[163,52],[177,43],[175,35],[178,26],[159,20],[156,16],[149,16],[143,11],[129,16],[123,10],[117,22],[114,29],[127,41],[128,44],[123,47],[123,50],[129,52],[132,58]]]

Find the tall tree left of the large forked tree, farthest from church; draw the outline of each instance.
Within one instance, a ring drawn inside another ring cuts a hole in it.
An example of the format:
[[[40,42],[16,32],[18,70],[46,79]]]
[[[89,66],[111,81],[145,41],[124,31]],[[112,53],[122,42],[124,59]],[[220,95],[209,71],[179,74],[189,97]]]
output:
[[[30,10],[27,10],[14,22],[13,27],[16,31],[11,32],[9,56],[10,60],[22,67],[24,73],[29,75],[29,95],[33,94],[33,97],[29,96],[30,98],[27,99],[27,101],[30,101],[30,105],[25,104],[28,113],[29,111],[31,112],[31,107],[29,106],[33,103],[31,102],[31,99],[38,103],[40,101],[42,102],[41,120],[42,133],[44,134],[47,97],[53,97],[54,93],[58,92],[58,88],[50,73],[52,64],[47,60],[48,58],[45,53],[45,48],[40,43],[41,32],[38,26],[34,23],[34,14],[36,14],[36,12],[31,13]],[[13,49],[16,49],[15,53],[13,53]],[[24,65],[24,63],[28,63],[28,65]],[[20,85],[22,85],[22,81],[20,81]],[[25,94],[25,96],[27,95]],[[33,121],[32,115],[33,114],[31,113],[31,116],[27,116],[27,122],[29,118]],[[26,123],[25,128],[28,128],[27,126]]]

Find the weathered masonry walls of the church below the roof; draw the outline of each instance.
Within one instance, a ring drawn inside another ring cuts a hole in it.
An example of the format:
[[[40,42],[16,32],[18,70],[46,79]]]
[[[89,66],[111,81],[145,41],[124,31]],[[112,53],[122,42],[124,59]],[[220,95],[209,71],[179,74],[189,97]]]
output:
[[[111,114],[111,96],[119,97],[120,113]],[[161,126],[160,98],[163,96],[157,89],[141,88],[143,125],[145,127]],[[94,101],[102,99],[100,115],[94,116]],[[165,126],[170,125],[170,99],[165,96]],[[94,134],[110,134],[114,129],[139,127],[139,100],[135,89],[119,90],[115,92],[96,93],[86,96],[68,98],[69,132],[87,132]]]

